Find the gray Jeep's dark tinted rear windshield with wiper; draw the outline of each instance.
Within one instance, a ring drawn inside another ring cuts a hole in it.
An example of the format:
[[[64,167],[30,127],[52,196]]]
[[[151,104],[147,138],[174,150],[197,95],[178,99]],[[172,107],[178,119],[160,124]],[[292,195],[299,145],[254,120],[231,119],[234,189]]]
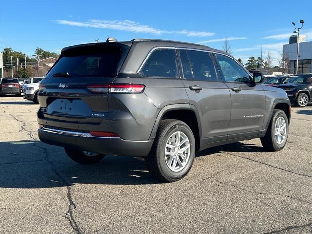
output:
[[[102,45],[65,50],[46,78],[116,77],[129,48],[124,45]]]

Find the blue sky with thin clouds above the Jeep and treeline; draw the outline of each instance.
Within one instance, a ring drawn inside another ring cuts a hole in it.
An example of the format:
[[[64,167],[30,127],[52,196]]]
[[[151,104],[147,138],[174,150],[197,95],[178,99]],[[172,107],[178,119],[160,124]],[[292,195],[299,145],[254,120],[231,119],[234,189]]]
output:
[[[12,47],[31,55],[36,47],[63,47],[105,41],[155,38],[201,43],[246,62],[278,51],[293,34],[294,21],[312,39],[312,0],[262,1],[11,1],[0,0],[0,50]]]

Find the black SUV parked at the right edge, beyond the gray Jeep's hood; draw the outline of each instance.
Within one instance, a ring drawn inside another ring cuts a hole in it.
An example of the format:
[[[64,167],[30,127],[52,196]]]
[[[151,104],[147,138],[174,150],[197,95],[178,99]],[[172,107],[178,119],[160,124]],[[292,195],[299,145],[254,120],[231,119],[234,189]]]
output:
[[[312,74],[298,74],[290,83],[274,87],[284,89],[289,100],[298,107],[305,107],[312,101]]]

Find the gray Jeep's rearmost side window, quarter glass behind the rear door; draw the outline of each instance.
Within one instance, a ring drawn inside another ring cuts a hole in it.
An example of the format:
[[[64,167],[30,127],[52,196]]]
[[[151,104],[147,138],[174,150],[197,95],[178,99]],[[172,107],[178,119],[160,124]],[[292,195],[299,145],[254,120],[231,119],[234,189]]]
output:
[[[143,77],[178,78],[177,57],[174,49],[156,49],[144,63]]]

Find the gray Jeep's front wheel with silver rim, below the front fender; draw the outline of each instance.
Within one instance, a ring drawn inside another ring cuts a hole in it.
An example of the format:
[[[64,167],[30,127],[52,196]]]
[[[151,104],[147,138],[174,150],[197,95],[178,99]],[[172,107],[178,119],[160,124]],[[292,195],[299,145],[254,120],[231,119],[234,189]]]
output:
[[[283,128],[285,126],[285,128]],[[261,143],[267,151],[279,151],[284,148],[288,138],[288,118],[284,111],[275,109]]]

